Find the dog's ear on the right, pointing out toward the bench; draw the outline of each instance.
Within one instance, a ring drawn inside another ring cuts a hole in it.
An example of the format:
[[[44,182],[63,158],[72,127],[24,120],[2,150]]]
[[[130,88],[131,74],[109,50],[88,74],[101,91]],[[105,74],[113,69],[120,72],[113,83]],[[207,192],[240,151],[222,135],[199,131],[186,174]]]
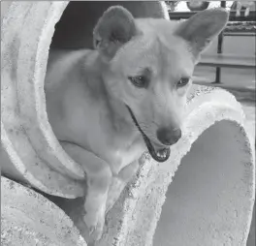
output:
[[[188,42],[198,59],[200,53],[224,29],[228,19],[228,12],[222,8],[202,11],[181,22],[175,34]]]

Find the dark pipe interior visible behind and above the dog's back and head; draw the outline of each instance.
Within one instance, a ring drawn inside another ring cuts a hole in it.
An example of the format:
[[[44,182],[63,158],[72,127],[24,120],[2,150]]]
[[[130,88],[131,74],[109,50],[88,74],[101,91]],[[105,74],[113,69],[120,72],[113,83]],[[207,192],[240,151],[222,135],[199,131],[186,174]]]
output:
[[[51,48],[93,48],[92,33],[98,19],[111,6],[121,5],[134,17],[163,17],[156,1],[70,2],[55,25]]]

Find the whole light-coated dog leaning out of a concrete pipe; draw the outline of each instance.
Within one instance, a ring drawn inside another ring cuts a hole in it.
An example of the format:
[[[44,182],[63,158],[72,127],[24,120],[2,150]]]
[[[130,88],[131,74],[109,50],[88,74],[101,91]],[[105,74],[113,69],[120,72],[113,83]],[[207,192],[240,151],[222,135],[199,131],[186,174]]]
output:
[[[227,20],[223,9],[176,22],[113,6],[94,28],[95,49],[49,52],[48,120],[86,173],[83,221],[93,240],[103,233],[112,178],[127,184],[146,150],[158,163],[170,157],[194,67]]]

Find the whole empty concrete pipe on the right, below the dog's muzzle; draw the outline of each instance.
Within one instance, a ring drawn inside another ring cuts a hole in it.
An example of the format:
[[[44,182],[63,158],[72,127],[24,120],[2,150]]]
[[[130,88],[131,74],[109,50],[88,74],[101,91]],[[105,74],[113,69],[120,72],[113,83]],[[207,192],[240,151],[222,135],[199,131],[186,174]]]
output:
[[[246,245],[255,151],[230,93],[193,87],[170,161],[147,161],[108,214],[98,246]]]

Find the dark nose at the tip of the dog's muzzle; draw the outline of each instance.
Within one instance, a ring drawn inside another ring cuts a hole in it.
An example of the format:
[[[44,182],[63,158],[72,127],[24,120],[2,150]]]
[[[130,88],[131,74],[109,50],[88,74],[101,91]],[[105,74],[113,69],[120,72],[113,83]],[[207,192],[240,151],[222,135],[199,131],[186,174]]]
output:
[[[172,130],[170,128],[160,128],[157,130],[156,136],[159,141],[165,145],[175,144],[179,138],[181,138],[181,130],[178,128]]]

